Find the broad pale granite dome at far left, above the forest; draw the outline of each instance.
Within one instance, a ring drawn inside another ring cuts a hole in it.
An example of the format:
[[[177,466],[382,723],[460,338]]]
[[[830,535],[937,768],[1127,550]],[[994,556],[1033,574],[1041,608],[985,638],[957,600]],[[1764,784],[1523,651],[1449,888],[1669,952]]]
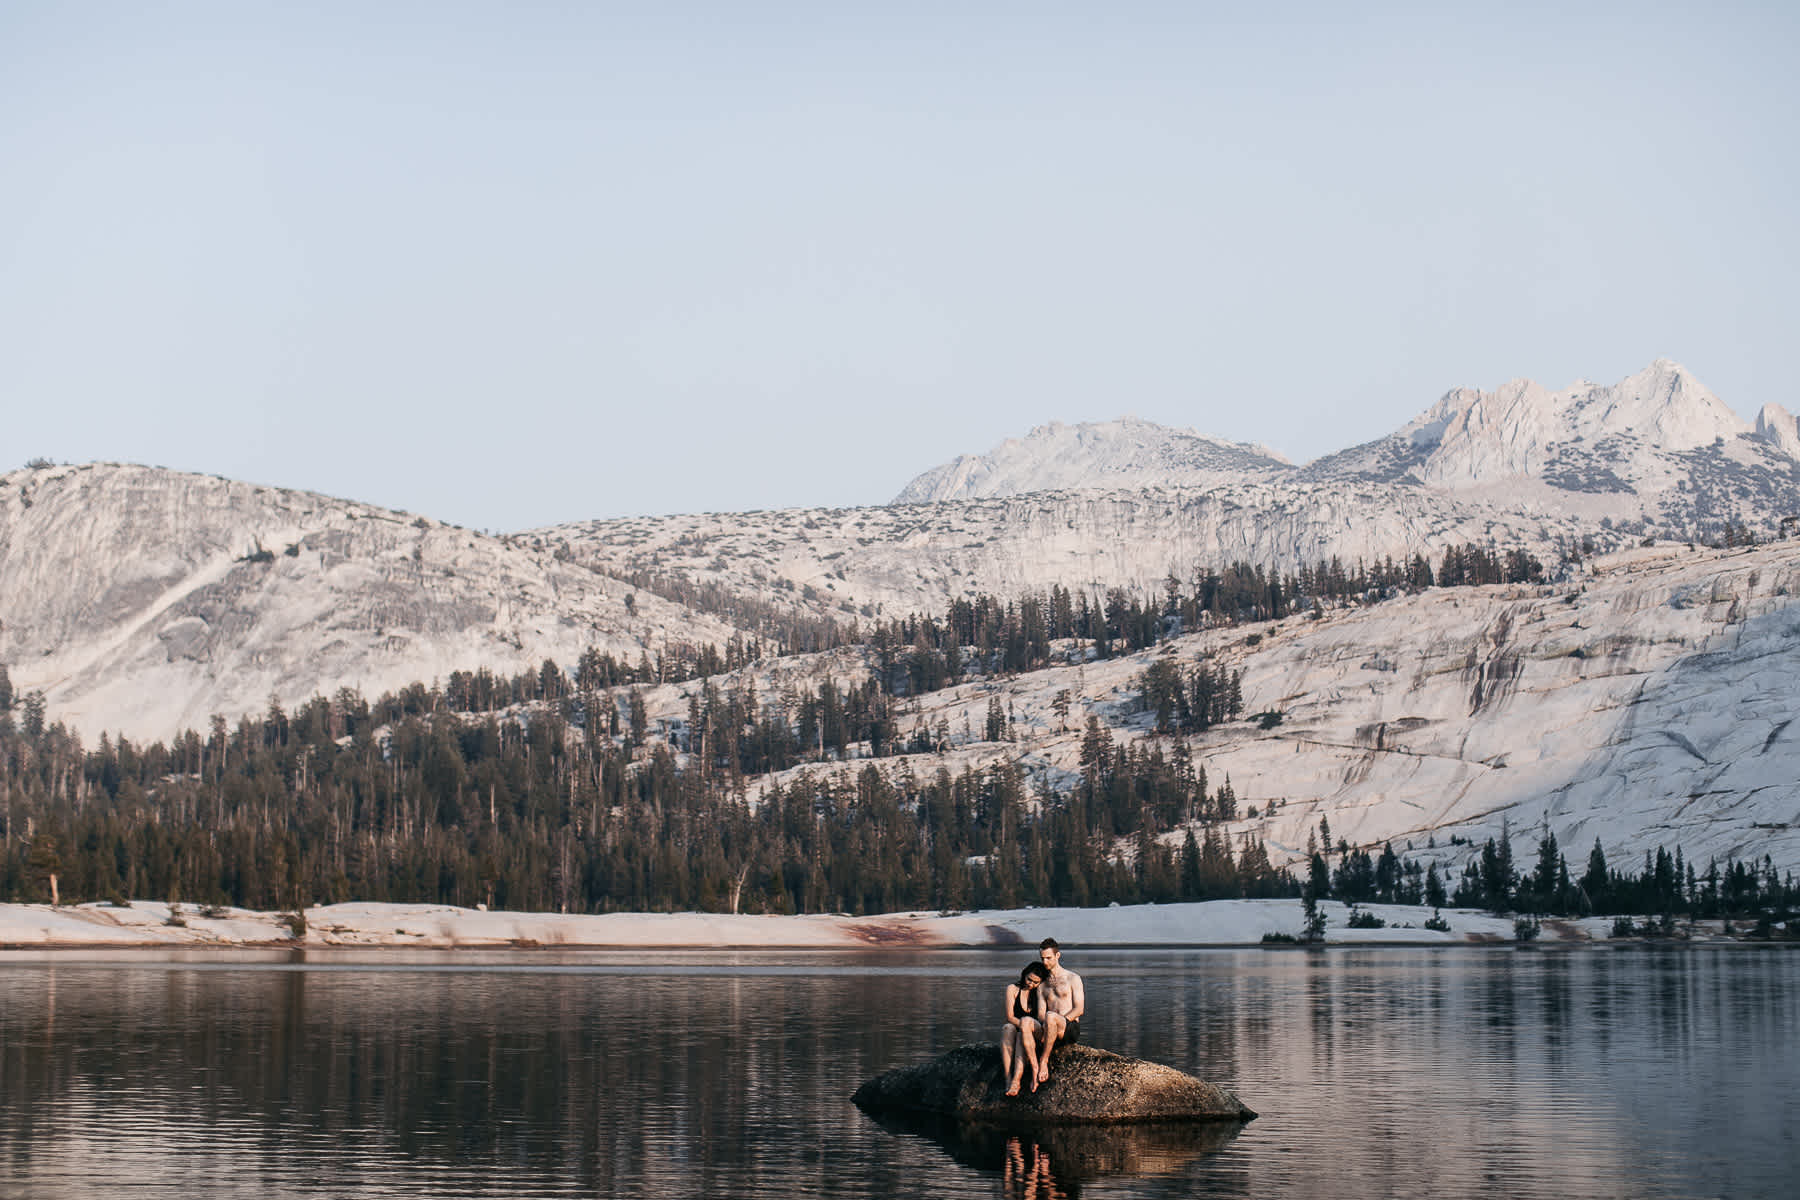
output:
[[[635,592],[517,540],[306,491],[110,464],[0,477],[0,664],[92,736],[731,637]]]

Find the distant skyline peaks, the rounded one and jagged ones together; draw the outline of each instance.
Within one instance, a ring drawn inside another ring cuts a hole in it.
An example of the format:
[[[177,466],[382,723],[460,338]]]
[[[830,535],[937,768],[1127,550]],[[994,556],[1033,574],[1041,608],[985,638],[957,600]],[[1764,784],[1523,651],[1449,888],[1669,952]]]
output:
[[[1665,536],[1726,524],[1775,533],[1800,515],[1800,430],[1777,405],[1751,426],[1665,358],[1615,385],[1514,380],[1454,389],[1386,437],[1305,466],[1148,421],[1048,425],[932,468],[895,504],[1035,491],[1217,489],[1246,482],[1390,484]],[[1316,493],[1309,493],[1316,495]]]

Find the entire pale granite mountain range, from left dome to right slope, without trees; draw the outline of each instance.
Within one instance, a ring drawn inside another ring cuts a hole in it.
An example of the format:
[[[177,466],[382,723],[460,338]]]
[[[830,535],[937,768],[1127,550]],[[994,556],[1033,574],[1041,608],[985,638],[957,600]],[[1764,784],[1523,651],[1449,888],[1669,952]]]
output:
[[[776,657],[769,639],[740,669],[709,667],[707,685],[632,684],[650,741],[691,763],[686,723],[707,687],[799,720],[796,696],[875,676],[871,619],[1051,585],[1096,604],[1111,588],[1159,597],[1170,576],[1192,588],[1235,561],[1285,574],[1332,556],[1438,565],[1445,547],[1521,549],[1546,567],[1541,581],[1370,587],[1278,622],[1208,617],[1129,657],[1066,639],[1049,666],[1013,675],[976,658],[950,687],[891,696],[902,738],[929,729],[932,752],[871,757],[860,743],[792,770],[1012,763],[1039,790],[1066,790],[1087,716],[1118,741],[1170,745],[1147,741],[1141,676],[1165,657],[1204,660],[1242,671],[1246,716],[1181,743],[1233,783],[1229,833],[1265,840],[1276,862],[1330,817],[1352,844],[1409,842],[1445,865],[1467,856],[1456,842],[1508,820],[1553,831],[1571,860],[1600,838],[1615,860],[1679,844],[1694,862],[1769,855],[1789,871],[1800,542],[1778,536],[1800,511],[1795,443],[1784,410],[1748,426],[1674,363],[1652,363],[1613,387],[1456,390],[1303,468],[1143,423],[1046,426],[985,473],[934,484],[1006,495],[504,538],[157,468],[40,466],[0,477],[0,664],[14,693],[41,691],[50,718],[86,738],[148,739],[261,714],[272,698],[374,698],[545,658],[571,671],[585,651],[635,664],[758,642],[770,622],[839,622],[815,639],[821,653]],[[1080,468],[1082,448],[1100,466]],[[1156,462],[1177,482],[1145,482]],[[1021,489],[1033,479],[1105,486]],[[1742,529],[1724,547],[1687,542],[1726,522]],[[1739,545],[1742,531],[1762,545]],[[985,736],[995,707],[1004,739]],[[747,781],[747,795],[767,783]]]

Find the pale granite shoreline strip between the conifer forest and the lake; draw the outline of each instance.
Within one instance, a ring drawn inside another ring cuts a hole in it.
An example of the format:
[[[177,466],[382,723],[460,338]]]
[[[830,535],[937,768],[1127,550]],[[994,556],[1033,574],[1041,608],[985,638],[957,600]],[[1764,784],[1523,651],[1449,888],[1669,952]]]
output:
[[[187,909],[164,901],[81,905],[0,905],[0,950],[250,950],[250,952],[608,952],[608,950],[1001,950],[1035,946],[1053,936],[1069,946],[1116,950],[1307,950],[1323,946],[1575,946],[1611,939],[1613,918],[1548,918],[1535,941],[1519,943],[1512,916],[1445,909],[1449,932],[1427,930],[1433,910],[1417,905],[1361,905],[1384,928],[1350,928],[1348,905],[1319,901],[1325,941],[1264,943],[1264,934],[1298,937],[1300,900],[1208,900],[1105,909],[1008,909],[981,912],[902,910],[878,916],[747,916],[716,912],[500,912],[452,905],[342,903],[292,916],[245,909]],[[286,921],[284,921],[286,918]],[[1719,921],[1701,921],[1690,941],[1732,943]]]

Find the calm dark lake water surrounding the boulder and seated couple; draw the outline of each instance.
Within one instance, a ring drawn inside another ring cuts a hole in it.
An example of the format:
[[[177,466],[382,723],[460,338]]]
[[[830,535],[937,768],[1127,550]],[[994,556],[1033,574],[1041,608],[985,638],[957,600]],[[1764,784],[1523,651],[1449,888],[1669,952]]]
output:
[[[1084,1040],[1262,1115],[886,1128],[1026,950],[0,954],[0,1195],[1793,1196],[1800,954],[1082,952]]]

